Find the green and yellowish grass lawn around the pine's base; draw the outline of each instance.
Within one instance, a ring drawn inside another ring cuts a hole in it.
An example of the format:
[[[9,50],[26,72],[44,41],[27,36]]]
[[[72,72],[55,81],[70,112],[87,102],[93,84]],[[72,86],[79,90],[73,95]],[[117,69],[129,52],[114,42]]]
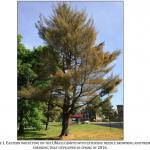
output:
[[[26,130],[24,135],[18,135],[18,140],[59,140],[60,123],[51,123],[47,131]],[[123,129],[98,126],[94,124],[79,124],[69,126],[69,136],[61,140],[122,140]]]

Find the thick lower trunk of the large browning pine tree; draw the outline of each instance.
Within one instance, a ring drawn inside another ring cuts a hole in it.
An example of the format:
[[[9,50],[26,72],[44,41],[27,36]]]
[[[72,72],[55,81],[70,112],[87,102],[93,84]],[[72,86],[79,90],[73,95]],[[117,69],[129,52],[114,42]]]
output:
[[[62,130],[60,136],[68,136],[69,135],[69,116],[70,114],[68,112],[63,112],[62,116]]]

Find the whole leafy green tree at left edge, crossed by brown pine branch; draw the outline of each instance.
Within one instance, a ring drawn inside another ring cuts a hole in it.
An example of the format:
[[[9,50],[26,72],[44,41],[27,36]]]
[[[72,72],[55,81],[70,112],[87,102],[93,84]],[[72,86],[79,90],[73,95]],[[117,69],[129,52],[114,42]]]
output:
[[[22,88],[31,86],[37,75],[32,67],[32,52],[25,48],[21,43],[22,36],[17,36],[17,77],[18,77],[18,91]],[[36,101],[31,101],[25,97],[18,95],[17,98],[17,119],[18,119],[18,133],[24,133],[24,128],[33,126],[37,129],[41,128],[41,120],[43,115],[42,104]]]

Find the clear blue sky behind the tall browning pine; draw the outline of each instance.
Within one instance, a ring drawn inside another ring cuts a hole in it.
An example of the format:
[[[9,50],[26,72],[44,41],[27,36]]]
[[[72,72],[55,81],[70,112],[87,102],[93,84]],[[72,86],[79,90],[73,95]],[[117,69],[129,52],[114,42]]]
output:
[[[18,2],[18,34],[23,36],[23,44],[32,49],[43,45],[35,23],[39,15],[51,16],[52,9],[57,2]],[[113,74],[118,74],[123,80],[123,2],[69,2],[76,10],[85,10],[88,17],[92,17],[98,33],[96,43],[105,42],[107,51],[120,50],[121,55],[114,62]],[[112,104],[123,104],[123,81],[114,93]]]

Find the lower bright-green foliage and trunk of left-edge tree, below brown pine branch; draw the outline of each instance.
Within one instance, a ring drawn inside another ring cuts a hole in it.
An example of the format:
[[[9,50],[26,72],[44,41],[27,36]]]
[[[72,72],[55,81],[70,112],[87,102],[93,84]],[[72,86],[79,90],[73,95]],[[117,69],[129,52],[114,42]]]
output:
[[[42,128],[42,120],[44,118],[41,103],[29,101],[26,99],[18,99],[18,133],[24,133],[25,127],[33,127],[35,129]]]

